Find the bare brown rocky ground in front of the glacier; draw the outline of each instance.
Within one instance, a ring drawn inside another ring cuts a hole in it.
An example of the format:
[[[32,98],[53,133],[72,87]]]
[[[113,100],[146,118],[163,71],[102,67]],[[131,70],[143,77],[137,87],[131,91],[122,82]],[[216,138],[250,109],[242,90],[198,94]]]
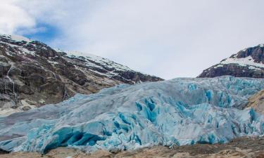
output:
[[[186,145],[182,147],[168,147],[156,146],[151,148],[142,148],[134,152],[118,152],[111,153],[106,151],[98,151],[92,154],[85,154],[79,150],[69,149],[66,147],[58,147],[51,150],[45,155],[38,153],[23,153],[16,152],[11,154],[1,154],[0,158],[104,158],[104,157],[133,157],[133,158],[161,158],[161,157],[174,157],[174,158],[264,158],[264,138],[237,138],[227,144],[197,144]]]

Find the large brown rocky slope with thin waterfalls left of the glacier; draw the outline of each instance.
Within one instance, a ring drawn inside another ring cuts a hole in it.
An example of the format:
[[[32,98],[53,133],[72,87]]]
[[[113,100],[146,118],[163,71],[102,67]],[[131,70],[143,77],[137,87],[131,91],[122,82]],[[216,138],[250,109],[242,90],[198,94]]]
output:
[[[96,55],[0,35],[0,114],[59,103],[75,93],[96,93],[116,84],[161,80]]]

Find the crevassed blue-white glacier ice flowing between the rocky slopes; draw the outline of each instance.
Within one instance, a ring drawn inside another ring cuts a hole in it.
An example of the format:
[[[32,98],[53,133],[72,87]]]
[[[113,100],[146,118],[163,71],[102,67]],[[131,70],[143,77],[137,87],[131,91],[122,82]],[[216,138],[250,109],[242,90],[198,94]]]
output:
[[[115,151],[263,136],[264,116],[244,109],[248,98],[263,88],[264,79],[225,76],[121,84],[77,94],[56,105],[0,117],[0,148]]]

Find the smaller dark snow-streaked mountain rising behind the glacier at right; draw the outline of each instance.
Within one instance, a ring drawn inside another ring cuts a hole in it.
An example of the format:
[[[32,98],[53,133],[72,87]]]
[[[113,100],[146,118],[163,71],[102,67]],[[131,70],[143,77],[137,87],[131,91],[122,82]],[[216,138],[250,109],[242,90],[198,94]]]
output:
[[[204,70],[199,77],[234,77],[264,78],[264,44],[246,48],[219,64]]]

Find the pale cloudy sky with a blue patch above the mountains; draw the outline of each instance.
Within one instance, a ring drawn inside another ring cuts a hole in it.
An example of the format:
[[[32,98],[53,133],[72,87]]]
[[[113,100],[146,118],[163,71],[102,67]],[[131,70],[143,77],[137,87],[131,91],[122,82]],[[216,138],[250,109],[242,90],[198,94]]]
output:
[[[264,43],[263,0],[0,0],[0,33],[163,79],[196,77]]]

